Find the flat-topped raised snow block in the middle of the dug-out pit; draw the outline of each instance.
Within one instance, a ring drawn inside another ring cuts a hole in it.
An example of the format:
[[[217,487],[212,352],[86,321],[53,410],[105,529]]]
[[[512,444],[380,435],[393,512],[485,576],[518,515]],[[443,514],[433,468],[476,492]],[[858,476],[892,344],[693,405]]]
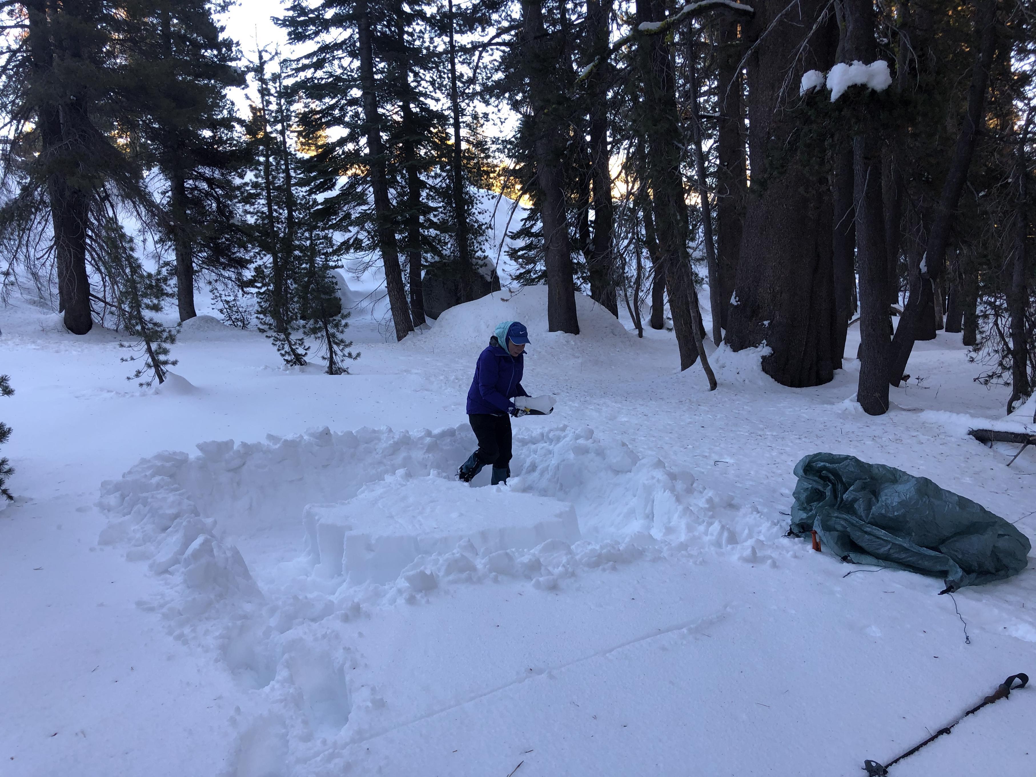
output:
[[[568,502],[406,472],[364,486],[348,501],[310,505],[304,515],[314,574],[344,575],[350,585],[390,582],[419,556],[465,540],[486,555],[580,539]]]

